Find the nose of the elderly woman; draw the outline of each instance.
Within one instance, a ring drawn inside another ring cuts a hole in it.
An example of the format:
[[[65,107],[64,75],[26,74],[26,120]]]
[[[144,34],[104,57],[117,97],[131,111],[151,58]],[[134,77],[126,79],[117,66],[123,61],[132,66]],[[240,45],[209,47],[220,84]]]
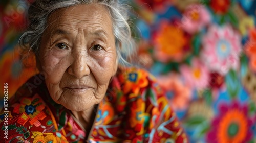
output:
[[[72,64],[68,68],[68,74],[80,79],[90,74],[90,68],[87,63],[87,56],[82,52],[72,56]]]

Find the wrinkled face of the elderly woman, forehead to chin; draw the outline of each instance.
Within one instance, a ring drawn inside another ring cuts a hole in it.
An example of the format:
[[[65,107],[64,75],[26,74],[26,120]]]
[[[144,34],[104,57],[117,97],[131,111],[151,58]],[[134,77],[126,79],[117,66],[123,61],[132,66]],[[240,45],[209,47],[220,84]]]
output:
[[[117,70],[112,21],[102,5],[79,5],[52,13],[42,36],[38,66],[52,99],[83,111],[104,97]]]

